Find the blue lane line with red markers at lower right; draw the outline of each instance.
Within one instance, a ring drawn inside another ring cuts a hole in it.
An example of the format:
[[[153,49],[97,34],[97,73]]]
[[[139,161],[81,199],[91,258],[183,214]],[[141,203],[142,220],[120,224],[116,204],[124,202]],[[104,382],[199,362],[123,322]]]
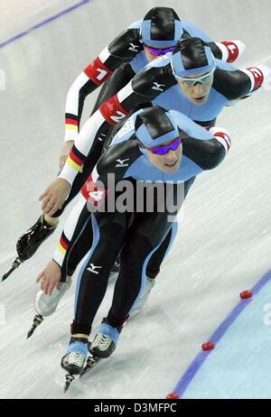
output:
[[[259,281],[254,285],[252,288],[252,292],[254,295],[259,292],[264,285],[268,281],[271,281],[271,271],[268,271]],[[229,313],[229,316],[220,324],[220,327],[212,334],[210,337],[210,341],[212,341],[214,344],[217,344],[224,335],[224,333],[229,329],[230,325],[238,318],[238,315],[248,306],[248,304],[253,301],[252,299],[239,301],[238,305]],[[197,374],[200,367],[202,366],[203,362],[206,360],[206,358],[210,355],[211,350],[207,352],[201,351],[197,357],[192,361],[192,364],[189,366],[187,371],[182,375],[181,380],[179,383],[175,386],[173,389],[173,393],[177,393],[180,398],[182,398],[182,394],[190,385],[192,382],[193,377]]]

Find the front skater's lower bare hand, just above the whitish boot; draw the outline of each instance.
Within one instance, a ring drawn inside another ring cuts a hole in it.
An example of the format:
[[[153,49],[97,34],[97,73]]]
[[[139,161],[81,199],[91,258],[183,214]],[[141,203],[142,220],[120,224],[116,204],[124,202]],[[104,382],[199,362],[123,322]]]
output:
[[[45,269],[43,269],[42,273],[39,273],[37,276],[37,283],[41,282],[41,289],[44,294],[51,295],[53,289],[57,285],[57,289],[61,289],[62,283],[61,280],[61,267],[54,261],[50,261]]]

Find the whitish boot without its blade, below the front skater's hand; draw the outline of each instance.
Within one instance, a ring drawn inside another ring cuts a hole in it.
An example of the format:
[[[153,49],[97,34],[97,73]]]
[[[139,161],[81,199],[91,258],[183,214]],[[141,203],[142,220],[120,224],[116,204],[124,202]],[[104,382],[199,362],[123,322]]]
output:
[[[51,295],[46,295],[44,292],[39,291],[33,303],[34,310],[36,310],[36,312],[42,317],[51,316],[51,314],[57,309],[64,293],[69,290],[70,285],[71,276],[67,276],[66,282],[61,285],[61,290],[58,290],[55,287]]]

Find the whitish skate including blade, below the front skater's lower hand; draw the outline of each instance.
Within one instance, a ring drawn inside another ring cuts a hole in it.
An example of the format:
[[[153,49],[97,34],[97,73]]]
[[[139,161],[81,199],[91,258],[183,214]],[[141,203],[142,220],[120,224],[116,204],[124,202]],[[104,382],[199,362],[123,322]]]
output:
[[[33,303],[34,310],[37,312],[33,318],[32,328],[27,333],[27,338],[33,335],[35,329],[42,324],[44,317],[51,316],[51,314],[57,309],[61,298],[64,293],[67,292],[71,285],[71,276],[67,276],[65,283],[62,283],[61,289],[54,288],[51,295],[46,295],[41,290],[37,293],[36,299]]]

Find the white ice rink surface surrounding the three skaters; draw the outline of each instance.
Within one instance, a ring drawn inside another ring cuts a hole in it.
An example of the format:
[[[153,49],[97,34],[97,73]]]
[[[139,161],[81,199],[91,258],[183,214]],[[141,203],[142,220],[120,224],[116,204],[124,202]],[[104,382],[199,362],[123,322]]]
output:
[[[216,41],[245,42],[247,51],[238,67],[264,62],[271,66],[269,0],[92,0],[3,45],[76,4],[79,1],[0,3],[1,275],[14,260],[17,237],[39,216],[38,196],[57,174],[68,88],[118,32],[154,5],[172,6]],[[97,92],[87,98],[85,118],[96,97]],[[70,204],[58,231],[0,284],[1,399],[163,399],[173,391],[201,344],[236,306],[239,292],[271,269],[270,105],[271,91],[262,90],[224,109],[217,125],[230,130],[231,150],[217,170],[195,181],[179,236],[145,310],[126,325],[114,355],[64,395],[60,360],[69,341],[74,284],[33,338],[26,340],[26,333],[34,315],[35,277],[52,255]],[[94,329],[107,313],[112,289],[111,283]],[[266,343],[270,349],[271,327],[266,324],[265,329],[266,336],[258,341],[263,349],[258,348],[255,357],[265,356]],[[246,331],[241,330],[245,347]],[[239,357],[242,354],[239,348]],[[225,366],[232,369],[236,394],[222,391],[219,396],[242,396],[238,372],[244,375],[246,366],[234,373],[235,363],[226,356]],[[211,367],[207,379],[211,372],[216,370]],[[261,375],[268,398],[270,375],[270,368]],[[252,380],[251,387],[255,384]],[[254,395],[258,393],[251,389],[251,398]]]

